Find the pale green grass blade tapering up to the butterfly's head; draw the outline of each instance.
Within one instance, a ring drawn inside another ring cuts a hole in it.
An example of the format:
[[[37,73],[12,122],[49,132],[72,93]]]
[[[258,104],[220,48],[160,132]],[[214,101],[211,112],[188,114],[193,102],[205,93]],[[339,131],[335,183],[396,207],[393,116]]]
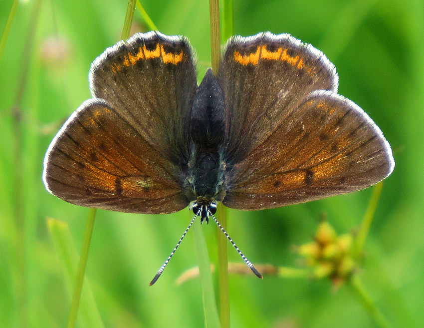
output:
[[[213,292],[211,263],[200,220],[195,221],[192,229],[194,230],[196,255],[199,265],[199,277],[202,286],[205,327],[219,328],[218,310],[216,309],[215,293]]]

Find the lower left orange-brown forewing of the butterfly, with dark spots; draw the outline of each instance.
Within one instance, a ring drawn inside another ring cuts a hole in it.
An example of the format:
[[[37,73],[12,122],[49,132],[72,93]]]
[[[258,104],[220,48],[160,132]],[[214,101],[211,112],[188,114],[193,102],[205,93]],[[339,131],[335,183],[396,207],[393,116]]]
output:
[[[77,205],[121,212],[171,213],[183,209],[174,165],[102,99],[90,99],[53,140],[44,182]]]

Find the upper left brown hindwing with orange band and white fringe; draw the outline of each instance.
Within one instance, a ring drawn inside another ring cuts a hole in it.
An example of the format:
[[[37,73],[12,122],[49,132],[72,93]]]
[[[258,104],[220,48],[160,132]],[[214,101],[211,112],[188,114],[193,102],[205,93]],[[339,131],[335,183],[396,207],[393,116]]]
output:
[[[187,38],[149,32],[118,42],[93,62],[90,87],[163,156],[187,157],[197,88]]]

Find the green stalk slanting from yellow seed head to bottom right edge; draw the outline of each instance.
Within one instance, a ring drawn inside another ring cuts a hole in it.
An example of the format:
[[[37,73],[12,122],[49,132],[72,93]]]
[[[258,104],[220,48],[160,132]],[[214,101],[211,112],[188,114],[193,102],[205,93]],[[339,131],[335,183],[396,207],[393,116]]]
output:
[[[377,308],[358,274],[353,274],[347,283],[352,293],[358,298],[377,326],[380,328],[391,328],[392,326]]]

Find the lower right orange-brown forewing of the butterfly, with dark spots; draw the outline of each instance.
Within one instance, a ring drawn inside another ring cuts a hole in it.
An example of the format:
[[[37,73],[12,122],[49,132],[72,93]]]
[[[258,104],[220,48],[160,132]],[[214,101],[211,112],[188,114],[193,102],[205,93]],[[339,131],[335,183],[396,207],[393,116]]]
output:
[[[369,187],[392,172],[388,142],[349,99],[316,91],[295,113],[233,167],[226,206],[255,210],[321,199]]]

